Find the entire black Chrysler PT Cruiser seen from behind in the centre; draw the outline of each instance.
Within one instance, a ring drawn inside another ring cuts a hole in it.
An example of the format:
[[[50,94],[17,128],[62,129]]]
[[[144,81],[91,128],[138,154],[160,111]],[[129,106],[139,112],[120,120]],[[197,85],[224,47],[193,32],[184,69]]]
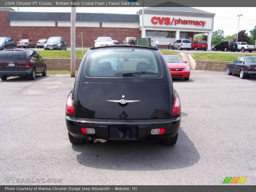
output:
[[[77,71],[66,102],[72,144],[161,139],[175,145],[180,99],[160,51],[135,45],[94,47]]]

